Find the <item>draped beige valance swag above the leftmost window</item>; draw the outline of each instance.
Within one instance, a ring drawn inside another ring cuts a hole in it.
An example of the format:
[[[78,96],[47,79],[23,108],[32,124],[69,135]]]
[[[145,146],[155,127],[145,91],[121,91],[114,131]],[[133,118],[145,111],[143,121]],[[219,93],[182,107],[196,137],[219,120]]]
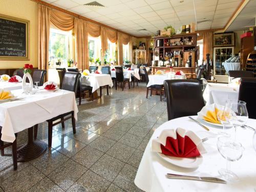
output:
[[[51,11],[51,23],[60,30],[70,31],[74,28],[74,17],[60,11]]]

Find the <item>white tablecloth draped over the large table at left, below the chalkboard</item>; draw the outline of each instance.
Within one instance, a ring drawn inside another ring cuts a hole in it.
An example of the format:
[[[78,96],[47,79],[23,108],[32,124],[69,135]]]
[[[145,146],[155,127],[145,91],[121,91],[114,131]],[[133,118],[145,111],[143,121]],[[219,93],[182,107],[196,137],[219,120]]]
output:
[[[77,120],[78,109],[74,92],[39,90],[34,95],[24,95],[20,89],[12,91],[12,94],[24,99],[0,103],[3,141],[13,142],[14,133],[70,111],[74,111]]]

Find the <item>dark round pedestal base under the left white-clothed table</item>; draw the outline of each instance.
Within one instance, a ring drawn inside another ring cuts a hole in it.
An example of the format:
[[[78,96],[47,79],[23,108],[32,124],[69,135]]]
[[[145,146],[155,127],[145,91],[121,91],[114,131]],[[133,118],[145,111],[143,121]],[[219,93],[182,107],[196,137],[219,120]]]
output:
[[[47,143],[33,139],[33,126],[28,129],[28,143],[17,149],[17,161],[25,162],[39,157],[47,150]]]

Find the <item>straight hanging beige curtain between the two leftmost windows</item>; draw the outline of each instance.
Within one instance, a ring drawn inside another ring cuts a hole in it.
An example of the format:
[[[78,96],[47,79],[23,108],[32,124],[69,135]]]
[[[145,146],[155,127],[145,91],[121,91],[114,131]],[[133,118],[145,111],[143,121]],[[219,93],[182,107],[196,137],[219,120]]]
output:
[[[89,50],[87,23],[79,18],[74,19],[75,60],[79,69],[89,69]]]

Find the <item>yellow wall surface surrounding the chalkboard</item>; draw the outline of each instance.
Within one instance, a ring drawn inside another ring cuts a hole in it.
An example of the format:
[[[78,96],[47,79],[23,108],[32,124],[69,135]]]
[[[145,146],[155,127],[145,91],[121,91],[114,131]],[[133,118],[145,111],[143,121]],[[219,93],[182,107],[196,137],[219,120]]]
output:
[[[25,63],[38,67],[37,3],[30,0],[1,0],[0,13],[30,21],[30,60],[0,60],[0,69],[22,68]]]

